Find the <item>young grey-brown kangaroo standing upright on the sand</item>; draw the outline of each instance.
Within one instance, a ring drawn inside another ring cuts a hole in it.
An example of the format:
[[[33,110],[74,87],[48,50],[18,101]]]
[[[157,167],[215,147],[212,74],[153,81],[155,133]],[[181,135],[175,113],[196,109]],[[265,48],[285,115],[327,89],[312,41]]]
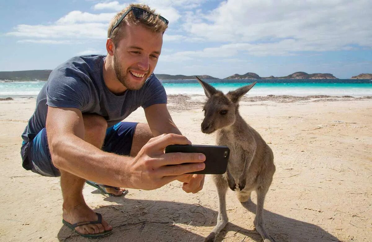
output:
[[[273,152],[259,133],[244,121],[238,111],[240,98],[256,82],[224,95],[208,83],[196,78],[208,97],[203,109],[205,118],[201,125],[202,132],[209,134],[217,131],[217,145],[230,148],[227,171],[223,175],[213,175],[217,186],[219,211],[217,225],[205,241],[215,241],[218,233],[228,222],[225,199],[227,187],[237,191],[241,203],[250,200],[251,191],[256,191],[257,210],[254,226],[264,242],[274,241],[266,232],[263,220],[263,203],[275,172]]]

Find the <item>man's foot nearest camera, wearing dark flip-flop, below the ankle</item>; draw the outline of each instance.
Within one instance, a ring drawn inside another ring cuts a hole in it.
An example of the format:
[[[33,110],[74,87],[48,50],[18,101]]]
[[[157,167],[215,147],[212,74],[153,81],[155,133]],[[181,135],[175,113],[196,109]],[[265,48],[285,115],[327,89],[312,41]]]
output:
[[[63,219],[71,225],[85,221],[97,221],[98,218],[97,214],[85,203],[81,203],[72,209],[65,209],[65,206],[63,206],[62,209]],[[102,219],[102,223],[77,226],[75,230],[83,235],[97,234],[112,230],[112,226]]]

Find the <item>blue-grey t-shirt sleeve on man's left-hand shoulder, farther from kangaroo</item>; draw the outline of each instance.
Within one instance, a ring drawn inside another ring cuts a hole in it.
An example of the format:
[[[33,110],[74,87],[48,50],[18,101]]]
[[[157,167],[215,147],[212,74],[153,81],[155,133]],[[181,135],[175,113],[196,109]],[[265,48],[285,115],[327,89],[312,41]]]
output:
[[[47,105],[83,110],[89,104],[89,78],[74,68],[60,68],[51,72],[46,88]]]

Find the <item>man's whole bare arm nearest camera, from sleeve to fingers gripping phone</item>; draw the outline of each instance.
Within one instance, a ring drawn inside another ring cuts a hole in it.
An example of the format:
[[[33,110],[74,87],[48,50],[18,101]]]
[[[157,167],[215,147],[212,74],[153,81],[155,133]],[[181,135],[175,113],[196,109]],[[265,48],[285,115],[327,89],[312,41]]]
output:
[[[83,115],[74,108],[49,106],[46,128],[55,167],[101,184],[151,190],[205,167],[197,153],[163,153],[167,145],[189,143],[181,135],[150,139],[135,158],[104,152],[84,141]],[[180,165],[184,162],[193,163]]]

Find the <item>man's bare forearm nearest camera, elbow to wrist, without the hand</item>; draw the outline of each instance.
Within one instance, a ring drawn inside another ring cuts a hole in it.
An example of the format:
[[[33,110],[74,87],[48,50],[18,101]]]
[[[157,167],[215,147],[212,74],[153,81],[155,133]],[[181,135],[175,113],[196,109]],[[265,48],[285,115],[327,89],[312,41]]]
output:
[[[73,134],[55,139],[50,146],[58,169],[100,184],[132,187],[128,172],[131,157],[102,151]]]

